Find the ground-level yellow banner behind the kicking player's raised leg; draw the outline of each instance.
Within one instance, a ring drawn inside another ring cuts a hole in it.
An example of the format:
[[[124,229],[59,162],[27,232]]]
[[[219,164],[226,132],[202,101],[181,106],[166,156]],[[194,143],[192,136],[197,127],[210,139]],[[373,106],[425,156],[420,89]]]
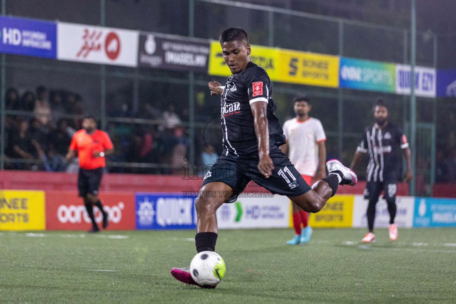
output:
[[[309,216],[312,227],[351,227],[353,211],[352,195],[335,195],[321,211]]]

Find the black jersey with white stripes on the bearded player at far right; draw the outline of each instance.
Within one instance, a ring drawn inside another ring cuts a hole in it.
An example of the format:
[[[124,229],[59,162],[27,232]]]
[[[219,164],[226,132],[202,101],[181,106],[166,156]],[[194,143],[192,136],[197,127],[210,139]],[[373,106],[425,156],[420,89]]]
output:
[[[358,151],[369,153],[370,160],[367,170],[367,181],[383,182],[398,171],[399,148],[409,146],[404,132],[394,124],[388,123],[383,129],[371,125],[366,128]]]

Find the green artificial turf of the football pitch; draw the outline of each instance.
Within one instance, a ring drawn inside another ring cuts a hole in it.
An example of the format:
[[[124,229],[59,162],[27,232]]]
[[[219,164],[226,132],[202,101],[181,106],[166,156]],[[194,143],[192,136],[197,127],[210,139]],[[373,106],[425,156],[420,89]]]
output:
[[[456,303],[456,229],[223,230],[216,289],[170,275],[196,254],[194,231],[0,233],[0,303]],[[121,238],[122,237],[122,238]],[[109,270],[109,271],[99,271]]]

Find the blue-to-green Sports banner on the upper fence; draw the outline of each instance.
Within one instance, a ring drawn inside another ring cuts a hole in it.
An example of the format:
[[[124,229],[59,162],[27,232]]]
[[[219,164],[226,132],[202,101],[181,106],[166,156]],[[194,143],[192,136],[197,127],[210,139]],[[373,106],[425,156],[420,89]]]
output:
[[[394,93],[394,63],[340,58],[339,86],[358,90]]]

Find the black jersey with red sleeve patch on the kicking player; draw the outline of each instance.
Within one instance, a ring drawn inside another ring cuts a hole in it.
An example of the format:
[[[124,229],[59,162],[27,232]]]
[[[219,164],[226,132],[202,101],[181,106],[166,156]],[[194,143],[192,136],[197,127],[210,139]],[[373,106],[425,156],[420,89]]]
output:
[[[250,104],[267,102],[270,149],[285,144],[282,126],[274,115],[277,106],[272,100],[271,83],[264,68],[249,62],[244,71],[228,77],[222,93],[223,155],[258,157],[254,116]]]

